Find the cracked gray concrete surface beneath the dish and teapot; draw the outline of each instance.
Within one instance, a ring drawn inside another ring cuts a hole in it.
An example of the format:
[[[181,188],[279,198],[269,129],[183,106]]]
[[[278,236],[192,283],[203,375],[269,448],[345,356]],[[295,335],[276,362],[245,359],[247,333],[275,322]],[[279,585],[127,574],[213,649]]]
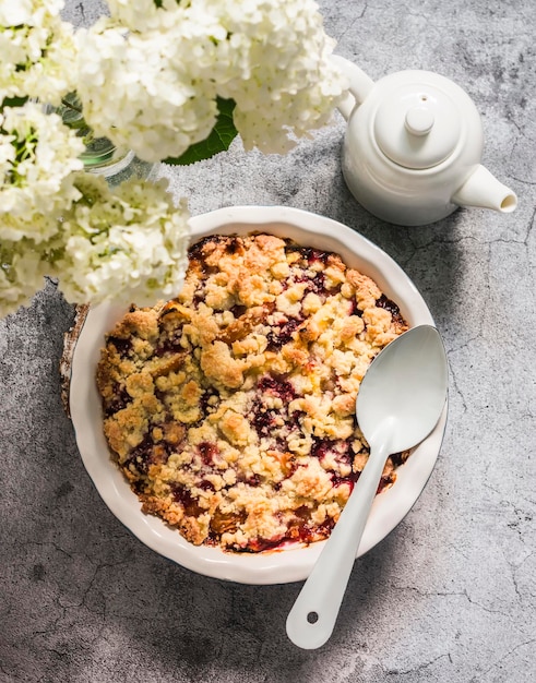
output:
[[[284,204],[358,230],[426,299],[451,368],[434,472],[357,562],[332,639],[285,635],[299,584],[250,587],[155,554],[107,510],[60,403],[73,309],[52,283],[0,322],[2,683],[522,683],[536,680],[536,8],[526,0],[323,0],[337,51],[378,79],[444,74],[483,115],[484,161],[514,214],[458,211],[425,228],[370,216],[341,176],[334,127],[287,157],[229,154],[166,171],[193,214]],[[90,23],[97,2],[71,0]]]

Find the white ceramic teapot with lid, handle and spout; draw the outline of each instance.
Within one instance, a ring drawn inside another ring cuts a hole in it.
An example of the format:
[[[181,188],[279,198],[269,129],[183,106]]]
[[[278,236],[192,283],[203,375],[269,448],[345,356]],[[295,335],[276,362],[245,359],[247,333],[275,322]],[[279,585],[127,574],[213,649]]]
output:
[[[338,56],[349,79],[343,175],[356,200],[389,223],[418,226],[458,206],[510,213],[517,197],[480,164],[480,116],[455,83],[400,71],[374,83]]]

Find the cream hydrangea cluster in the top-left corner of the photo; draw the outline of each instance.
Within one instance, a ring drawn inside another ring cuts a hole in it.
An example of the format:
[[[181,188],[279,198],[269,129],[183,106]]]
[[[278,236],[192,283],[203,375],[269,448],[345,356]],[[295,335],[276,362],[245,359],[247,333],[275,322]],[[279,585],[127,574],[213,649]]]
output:
[[[59,105],[76,86],[74,31],[62,0],[0,3],[0,101],[32,97]]]

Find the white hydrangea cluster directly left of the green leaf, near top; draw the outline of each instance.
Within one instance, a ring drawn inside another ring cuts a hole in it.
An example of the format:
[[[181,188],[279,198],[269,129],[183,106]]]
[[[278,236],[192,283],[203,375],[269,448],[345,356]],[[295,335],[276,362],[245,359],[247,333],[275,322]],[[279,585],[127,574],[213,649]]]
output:
[[[217,115],[215,86],[196,83],[189,62],[176,58],[178,48],[187,51],[176,36],[128,33],[104,19],[78,39],[78,94],[97,135],[146,161],[180,156],[209,135]]]

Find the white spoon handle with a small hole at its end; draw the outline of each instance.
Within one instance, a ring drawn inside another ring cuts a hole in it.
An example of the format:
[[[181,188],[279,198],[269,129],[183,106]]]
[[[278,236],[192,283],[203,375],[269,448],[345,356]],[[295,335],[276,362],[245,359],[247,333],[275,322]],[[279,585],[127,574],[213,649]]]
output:
[[[333,632],[388,455],[386,442],[371,448],[337,524],[288,613],[287,635],[298,647],[320,647]]]

